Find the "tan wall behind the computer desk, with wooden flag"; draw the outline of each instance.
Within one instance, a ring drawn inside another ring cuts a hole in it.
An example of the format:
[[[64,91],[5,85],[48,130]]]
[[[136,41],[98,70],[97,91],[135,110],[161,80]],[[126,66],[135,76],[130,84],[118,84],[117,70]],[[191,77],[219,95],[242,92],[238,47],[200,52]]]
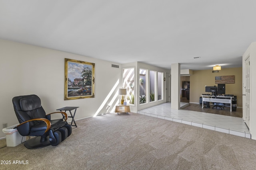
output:
[[[223,68],[216,73],[212,73],[212,70],[194,70],[190,76],[190,102],[199,103],[200,95],[207,94],[205,86],[218,86],[215,76],[235,76],[234,84],[226,84],[226,94],[237,96],[237,106],[242,107],[242,67]]]

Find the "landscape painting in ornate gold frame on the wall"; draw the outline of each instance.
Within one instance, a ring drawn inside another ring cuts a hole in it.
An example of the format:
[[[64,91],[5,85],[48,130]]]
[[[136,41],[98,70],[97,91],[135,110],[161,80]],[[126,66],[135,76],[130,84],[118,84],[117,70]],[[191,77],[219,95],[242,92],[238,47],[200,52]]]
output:
[[[94,63],[65,59],[64,100],[94,98]]]

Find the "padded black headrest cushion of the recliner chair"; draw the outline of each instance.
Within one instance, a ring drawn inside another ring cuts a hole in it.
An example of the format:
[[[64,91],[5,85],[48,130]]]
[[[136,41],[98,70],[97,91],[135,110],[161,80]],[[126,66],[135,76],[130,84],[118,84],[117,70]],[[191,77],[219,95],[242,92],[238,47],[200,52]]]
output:
[[[30,111],[41,107],[41,100],[39,97],[30,97],[20,99],[20,108],[22,111]]]

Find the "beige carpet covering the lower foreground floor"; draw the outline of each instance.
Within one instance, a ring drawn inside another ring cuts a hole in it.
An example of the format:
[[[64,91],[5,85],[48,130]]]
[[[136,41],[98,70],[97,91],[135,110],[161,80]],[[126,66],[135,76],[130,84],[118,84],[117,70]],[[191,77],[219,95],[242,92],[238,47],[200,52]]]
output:
[[[76,121],[60,145],[0,149],[1,170],[252,170],[256,141],[137,113],[108,113]]]

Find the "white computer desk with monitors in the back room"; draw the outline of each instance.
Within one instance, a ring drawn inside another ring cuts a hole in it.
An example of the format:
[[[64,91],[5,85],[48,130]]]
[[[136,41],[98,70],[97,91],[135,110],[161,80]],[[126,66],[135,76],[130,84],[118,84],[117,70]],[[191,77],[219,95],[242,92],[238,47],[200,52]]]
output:
[[[232,98],[231,96],[209,96],[209,95],[200,95],[202,96],[202,108],[204,108],[204,102],[213,102],[213,103],[228,103],[230,104],[230,111],[232,111]]]

